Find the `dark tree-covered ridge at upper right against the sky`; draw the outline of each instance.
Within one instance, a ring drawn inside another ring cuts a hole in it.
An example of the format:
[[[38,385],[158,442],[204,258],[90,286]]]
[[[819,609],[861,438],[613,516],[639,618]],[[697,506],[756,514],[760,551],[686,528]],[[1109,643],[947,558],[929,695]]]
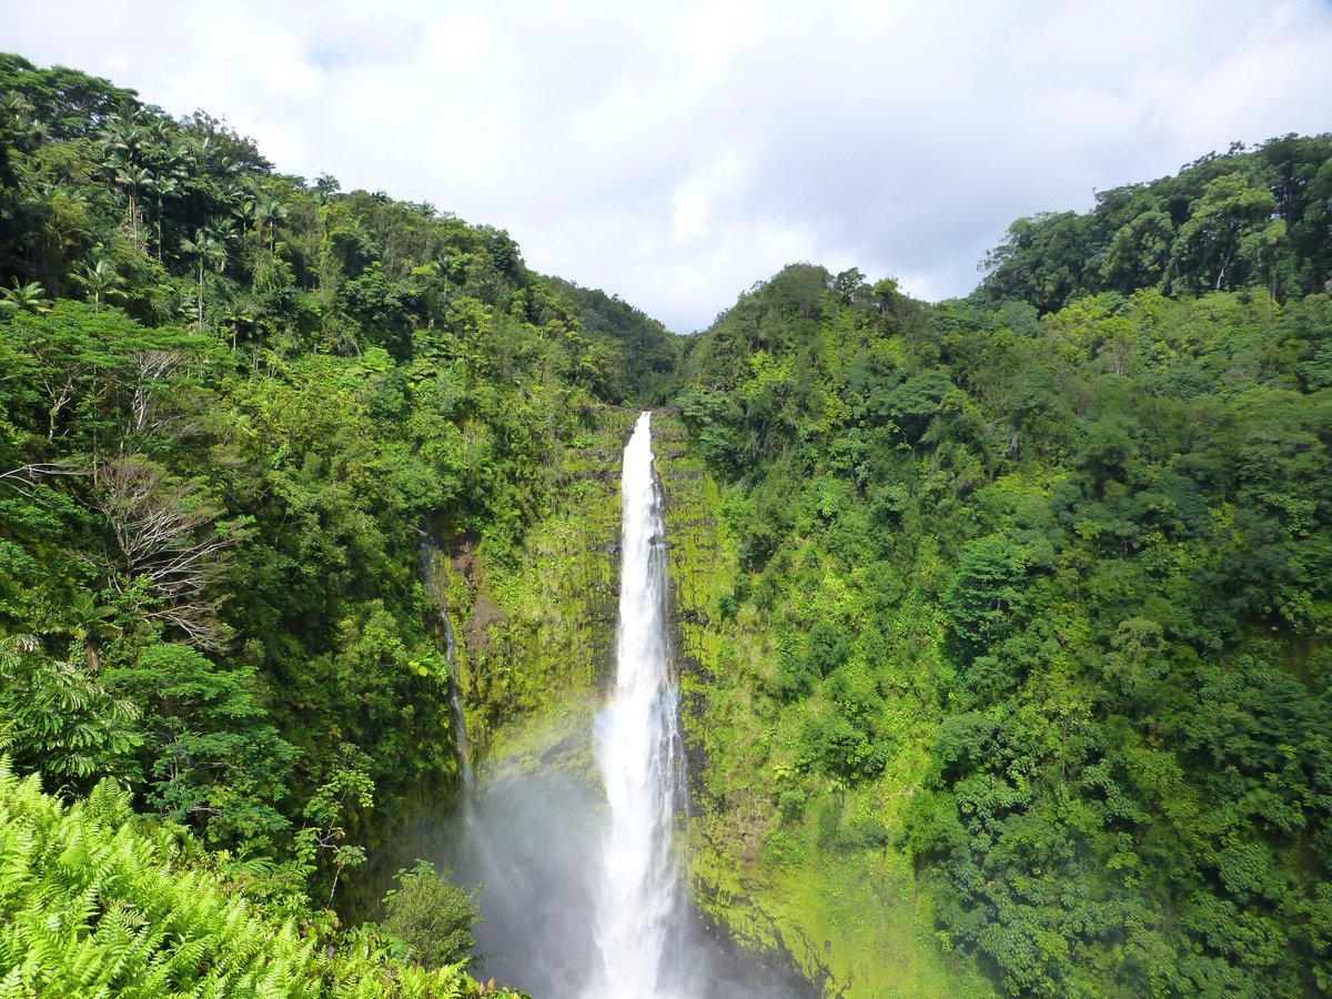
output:
[[[1156,288],[1203,294],[1265,288],[1272,298],[1328,290],[1328,136],[1283,136],[1175,177],[1096,193],[1087,214],[1020,218],[991,250],[982,292],[1054,312],[1087,294]]]

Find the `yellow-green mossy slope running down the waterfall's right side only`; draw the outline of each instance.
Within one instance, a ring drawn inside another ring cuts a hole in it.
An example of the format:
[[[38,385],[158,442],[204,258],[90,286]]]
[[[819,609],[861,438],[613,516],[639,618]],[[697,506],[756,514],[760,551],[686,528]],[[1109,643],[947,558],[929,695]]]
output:
[[[795,746],[821,699],[779,711],[762,693],[779,661],[771,621],[747,603],[722,613],[745,581],[721,517],[726,494],[687,450],[678,421],[654,428],[694,803],[686,863],[699,907],[739,946],[786,951],[829,996],[992,995],[972,964],[940,951],[930,892],[894,846],[932,726],[911,717],[914,699],[890,702],[896,749],[883,778],[823,782],[813,799],[795,790]],[[793,574],[814,581],[795,594],[810,619],[862,613],[864,579],[838,575],[814,550],[790,555]]]

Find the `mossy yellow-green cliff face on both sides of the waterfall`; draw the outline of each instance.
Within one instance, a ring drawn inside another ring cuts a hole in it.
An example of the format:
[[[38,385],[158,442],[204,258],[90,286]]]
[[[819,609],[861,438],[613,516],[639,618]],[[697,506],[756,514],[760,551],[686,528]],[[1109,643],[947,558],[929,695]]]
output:
[[[633,417],[607,413],[563,456],[559,500],[519,551],[468,539],[441,559],[482,773],[555,766],[597,783],[590,731],[614,669],[619,464]],[[686,448],[678,418],[654,416],[653,438],[690,783],[685,855],[699,908],[737,944],[793,964],[826,995],[983,994],[931,946],[928,898],[900,851],[866,860],[786,839],[775,803],[782,766],[757,710],[777,653],[751,607],[730,613],[738,554],[727,494]],[[851,807],[817,803],[834,806]]]

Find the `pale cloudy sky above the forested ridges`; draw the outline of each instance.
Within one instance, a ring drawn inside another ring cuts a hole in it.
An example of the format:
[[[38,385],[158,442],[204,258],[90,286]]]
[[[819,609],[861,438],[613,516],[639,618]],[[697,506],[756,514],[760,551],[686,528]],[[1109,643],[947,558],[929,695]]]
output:
[[[1332,0],[0,0],[0,51],[706,328],[783,265],[970,292],[1008,224],[1332,131]]]

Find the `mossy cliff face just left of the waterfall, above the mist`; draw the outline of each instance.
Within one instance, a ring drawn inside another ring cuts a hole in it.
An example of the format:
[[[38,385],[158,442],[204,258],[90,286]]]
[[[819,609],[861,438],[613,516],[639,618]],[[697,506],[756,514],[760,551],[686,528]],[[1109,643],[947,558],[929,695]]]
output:
[[[594,777],[589,737],[614,671],[619,464],[634,416],[602,410],[565,449],[551,509],[517,550],[462,538],[442,566],[482,770],[555,762]]]

